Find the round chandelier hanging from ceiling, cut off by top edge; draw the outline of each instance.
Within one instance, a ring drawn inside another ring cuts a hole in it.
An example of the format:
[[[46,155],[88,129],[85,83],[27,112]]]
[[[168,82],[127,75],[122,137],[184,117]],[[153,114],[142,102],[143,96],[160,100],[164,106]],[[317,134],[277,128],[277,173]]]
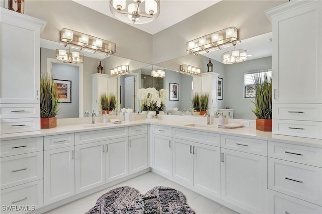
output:
[[[111,13],[122,22],[144,24],[160,13],[160,0],[110,0]]]

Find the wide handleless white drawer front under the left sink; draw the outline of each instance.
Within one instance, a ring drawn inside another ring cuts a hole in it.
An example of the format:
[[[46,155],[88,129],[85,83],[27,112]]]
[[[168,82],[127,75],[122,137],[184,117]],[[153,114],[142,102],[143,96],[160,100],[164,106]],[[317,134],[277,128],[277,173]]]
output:
[[[128,127],[75,133],[75,145],[128,137]]]

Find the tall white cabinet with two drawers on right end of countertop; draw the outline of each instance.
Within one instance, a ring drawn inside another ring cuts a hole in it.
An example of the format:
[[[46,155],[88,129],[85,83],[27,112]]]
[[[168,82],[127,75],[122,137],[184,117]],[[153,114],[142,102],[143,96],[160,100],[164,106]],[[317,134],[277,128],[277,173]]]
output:
[[[267,11],[273,26],[273,133],[322,139],[321,1]]]

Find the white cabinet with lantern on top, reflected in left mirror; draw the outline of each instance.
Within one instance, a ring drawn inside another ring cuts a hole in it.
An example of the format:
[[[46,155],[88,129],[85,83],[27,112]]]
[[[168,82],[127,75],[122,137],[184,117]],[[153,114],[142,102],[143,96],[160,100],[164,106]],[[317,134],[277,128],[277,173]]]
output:
[[[117,96],[117,77],[108,74],[95,73],[92,74],[92,84],[93,84],[93,111],[101,115],[102,107],[100,102],[101,94],[106,93],[110,95],[114,93]]]

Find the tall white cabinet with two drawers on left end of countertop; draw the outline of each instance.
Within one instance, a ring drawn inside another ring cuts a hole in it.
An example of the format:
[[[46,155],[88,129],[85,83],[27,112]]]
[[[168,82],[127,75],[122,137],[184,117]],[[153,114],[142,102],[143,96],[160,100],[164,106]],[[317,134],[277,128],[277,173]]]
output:
[[[40,33],[46,22],[0,8],[1,133],[40,130]]]

